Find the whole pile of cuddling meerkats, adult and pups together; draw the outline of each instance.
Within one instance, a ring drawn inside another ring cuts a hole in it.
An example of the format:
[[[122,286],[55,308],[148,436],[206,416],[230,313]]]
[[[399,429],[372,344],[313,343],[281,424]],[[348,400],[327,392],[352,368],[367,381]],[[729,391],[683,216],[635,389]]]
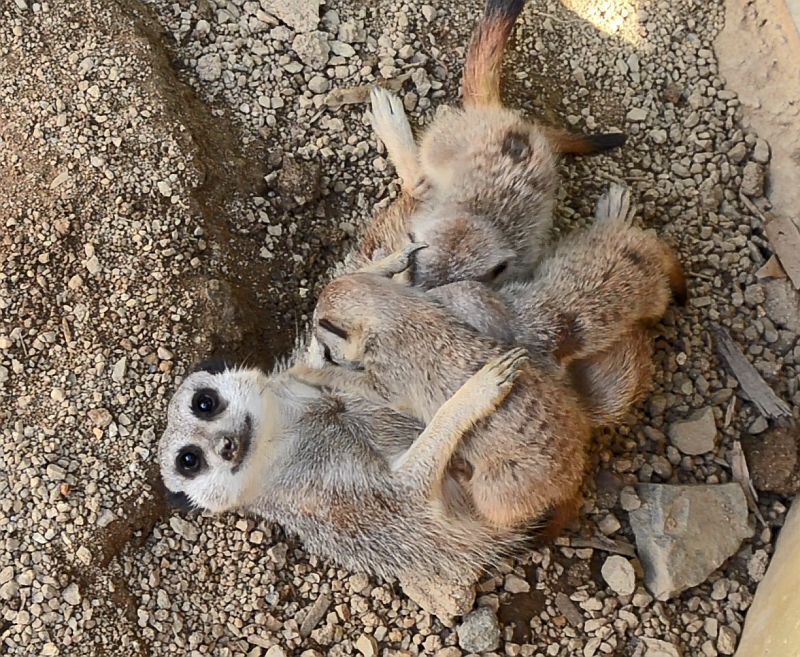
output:
[[[576,513],[592,432],[648,389],[649,327],[686,288],[620,189],[548,243],[558,156],[624,137],[502,106],[522,6],[488,0],[463,107],[419,144],[373,91],[402,195],[322,291],[291,366],[204,363],[182,382],[159,446],[174,501],[277,522],[353,571],[463,583]]]

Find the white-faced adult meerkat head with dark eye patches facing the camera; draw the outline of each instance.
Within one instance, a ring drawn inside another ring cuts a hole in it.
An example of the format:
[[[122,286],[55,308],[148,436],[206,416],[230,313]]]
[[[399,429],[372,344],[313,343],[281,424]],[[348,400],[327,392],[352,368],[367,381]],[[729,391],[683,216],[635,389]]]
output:
[[[266,388],[260,370],[226,365],[200,365],[184,379],[158,446],[172,502],[221,512],[251,501],[265,452]]]

